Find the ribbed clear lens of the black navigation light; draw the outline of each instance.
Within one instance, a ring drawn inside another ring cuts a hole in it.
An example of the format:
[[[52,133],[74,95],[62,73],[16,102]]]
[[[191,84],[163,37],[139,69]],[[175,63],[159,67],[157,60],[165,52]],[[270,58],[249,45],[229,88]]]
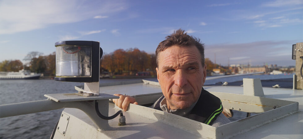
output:
[[[92,47],[56,47],[56,76],[89,77],[92,75],[91,67]]]

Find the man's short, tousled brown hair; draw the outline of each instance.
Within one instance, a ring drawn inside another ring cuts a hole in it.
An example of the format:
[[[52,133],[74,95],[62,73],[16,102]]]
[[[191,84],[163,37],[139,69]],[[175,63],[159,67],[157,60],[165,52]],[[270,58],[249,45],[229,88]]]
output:
[[[187,33],[184,33],[184,30],[178,29],[173,32],[173,34],[166,36],[166,40],[163,40],[159,43],[156,49],[156,63],[157,67],[159,66],[159,53],[164,51],[166,48],[169,48],[173,45],[179,47],[192,47],[195,46],[198,48],[201,55],[201,63],[204,66],[204,44],[200,43],[200,39],[194,36],[189,36]]]

